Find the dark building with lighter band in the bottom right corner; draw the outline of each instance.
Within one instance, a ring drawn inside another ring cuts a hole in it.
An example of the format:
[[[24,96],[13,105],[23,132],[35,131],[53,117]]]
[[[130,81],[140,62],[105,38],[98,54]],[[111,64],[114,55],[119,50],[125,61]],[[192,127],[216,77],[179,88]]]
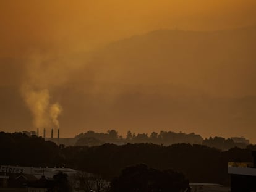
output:
[[[231,175],[231,192],[256,191],[256,151],[252,152],[254,162],[229,162],[228,174]]]

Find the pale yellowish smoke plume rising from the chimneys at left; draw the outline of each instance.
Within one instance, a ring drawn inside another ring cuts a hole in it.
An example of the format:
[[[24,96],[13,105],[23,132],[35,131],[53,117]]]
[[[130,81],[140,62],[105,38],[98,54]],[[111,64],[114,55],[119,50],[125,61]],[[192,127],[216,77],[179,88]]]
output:
[[[53,102],[50,90],[55,90],[66,82],[67,63],[58,56],[33,52],[24,64],[21,93],[33,115],[34,128],[59,128],[58,116],[61,104]],[[58,61],[58,62],[57,62]],[[58,74],[58,75],[57,75]]]

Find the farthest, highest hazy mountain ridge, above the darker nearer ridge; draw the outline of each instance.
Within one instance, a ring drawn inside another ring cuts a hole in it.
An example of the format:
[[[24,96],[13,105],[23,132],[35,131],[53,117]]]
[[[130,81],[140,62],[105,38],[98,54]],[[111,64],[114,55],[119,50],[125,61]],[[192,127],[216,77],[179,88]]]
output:
[[[215,96],[255,95],[256,27],[223,31],[156,30],[95,53],[100,81],[173,84]]]

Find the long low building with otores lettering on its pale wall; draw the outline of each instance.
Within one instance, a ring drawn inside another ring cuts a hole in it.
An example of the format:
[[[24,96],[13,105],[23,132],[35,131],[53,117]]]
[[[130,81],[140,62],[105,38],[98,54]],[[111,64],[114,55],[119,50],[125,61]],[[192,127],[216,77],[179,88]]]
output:
[[[53,177],[59,172],[70,179],[78,173],[70,168],[0,165],[0,191],[45,192],[54,185]]]

